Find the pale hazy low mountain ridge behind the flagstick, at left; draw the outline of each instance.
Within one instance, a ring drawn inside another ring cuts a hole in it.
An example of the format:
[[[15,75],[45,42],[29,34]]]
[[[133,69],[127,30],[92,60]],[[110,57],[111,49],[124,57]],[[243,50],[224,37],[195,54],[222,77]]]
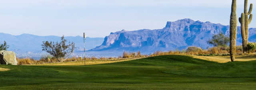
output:
[[[42,53],[42,41],[60,42],[59,36],[36,36],[32,34],[21,34],[14,36],[11,34],[0,33],[0,44],[4,41],[10,46],[8,50],[17,54]],[[76,52],[84,50],[84,41],[81,36],[64,36],[70,42],[74,42]],[[102,44],[104,38],[87,38],[86,50],[90,50]]]

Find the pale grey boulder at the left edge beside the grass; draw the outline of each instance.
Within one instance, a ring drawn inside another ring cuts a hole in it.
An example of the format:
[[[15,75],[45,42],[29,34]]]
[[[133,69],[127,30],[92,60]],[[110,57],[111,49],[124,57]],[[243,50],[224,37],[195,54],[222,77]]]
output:
[[[0,64],[17,65],[16,54],[12,51],[0,51]]]

